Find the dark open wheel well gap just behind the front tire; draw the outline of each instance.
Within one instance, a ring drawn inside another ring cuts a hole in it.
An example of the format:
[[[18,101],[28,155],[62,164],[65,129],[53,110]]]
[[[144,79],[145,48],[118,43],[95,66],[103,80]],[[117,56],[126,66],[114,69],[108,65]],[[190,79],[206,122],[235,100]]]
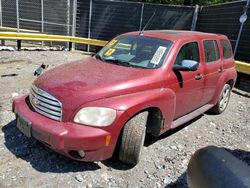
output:
[[[157,107],[147,108],[143,111],[148,111],[147,120],[147,133],[151,133],[153,136],[159,136],[161,127],[164,124],[162,112]]]

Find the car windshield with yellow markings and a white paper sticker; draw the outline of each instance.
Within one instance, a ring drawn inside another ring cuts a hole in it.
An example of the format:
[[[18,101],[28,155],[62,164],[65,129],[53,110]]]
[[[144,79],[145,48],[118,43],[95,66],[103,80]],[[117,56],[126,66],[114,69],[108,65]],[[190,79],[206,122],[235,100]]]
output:
[[[123,35],[111,40],[95,57],[121,66],[154,69],[163,64],[171,45],[168,40]]]

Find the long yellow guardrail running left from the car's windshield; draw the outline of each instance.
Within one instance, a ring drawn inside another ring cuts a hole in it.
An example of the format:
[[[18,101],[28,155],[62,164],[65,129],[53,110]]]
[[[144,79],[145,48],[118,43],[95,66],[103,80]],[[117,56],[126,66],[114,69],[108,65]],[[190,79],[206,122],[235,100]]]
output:
[[[72,37],[72,36],[48,35],[48,34],[38,34],[38,33],[17,33],[17,32],[0,32],[0,40],[72,42],[80,44],[89,44],[93,46],[105,46],[108,42],[103,40]]]

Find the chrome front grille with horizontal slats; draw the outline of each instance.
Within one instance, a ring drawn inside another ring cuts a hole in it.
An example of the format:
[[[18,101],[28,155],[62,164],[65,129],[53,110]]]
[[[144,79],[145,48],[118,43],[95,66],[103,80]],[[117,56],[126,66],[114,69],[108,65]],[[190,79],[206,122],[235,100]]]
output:
[[[62,120],[62,104],[52,95],[32,85],[29,98],[35,111],[51,119]]]

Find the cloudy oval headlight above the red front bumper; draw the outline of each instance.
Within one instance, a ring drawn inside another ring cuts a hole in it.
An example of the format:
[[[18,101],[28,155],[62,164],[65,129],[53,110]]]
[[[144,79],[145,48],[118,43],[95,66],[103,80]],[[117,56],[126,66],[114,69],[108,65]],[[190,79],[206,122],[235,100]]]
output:
[[[86,107],[77,112],[74,117],[74,122],[94,125],[94,126],[108,126],[111,125],[116,117],[116,111],[105,107]]]

